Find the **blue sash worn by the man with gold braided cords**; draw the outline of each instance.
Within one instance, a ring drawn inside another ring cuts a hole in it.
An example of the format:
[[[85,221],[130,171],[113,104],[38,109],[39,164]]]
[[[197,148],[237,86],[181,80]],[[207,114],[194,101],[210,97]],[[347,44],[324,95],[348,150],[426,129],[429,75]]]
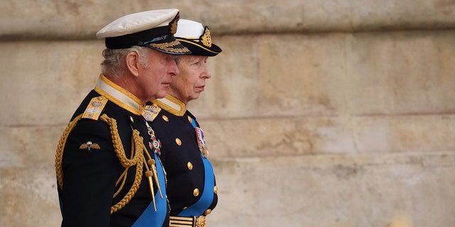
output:
[[[163,226],[164,220],[166,219],[168,204],[166,201],[166,182],[164,180],[164,171],[161,165],[161,161],[158,157],[156,157],[156,153],[154,153],[154,157],[156,160],[156,173],[158,174],[158,181],[159,186],[161,187],[161,193],[163,194],[163,199],[161,199],[159,192],[155,192],[156,212],[154,209],[154,203],[151,202],[145,209],[144,213],[142,213],[141,216],[137,218],[136,222],[134,222],[134,227],[161,227]]]

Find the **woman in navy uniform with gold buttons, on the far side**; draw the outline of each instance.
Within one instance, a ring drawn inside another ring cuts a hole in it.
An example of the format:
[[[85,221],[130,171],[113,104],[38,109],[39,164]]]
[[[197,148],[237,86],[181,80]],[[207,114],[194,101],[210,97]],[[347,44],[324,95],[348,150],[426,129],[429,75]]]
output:
[[[218,187],[203,130],[186,107],[204,91],[205,80],[210,79],[206,61],[221,49],[212,43],[208,27],[196,21],[178,21],[176,38],[191,55],[176,56],[181,74],[173,79],[165,98],[146,106],[144,116],[163,144],[170,226],[205,226],[205,216],[217,204]]]

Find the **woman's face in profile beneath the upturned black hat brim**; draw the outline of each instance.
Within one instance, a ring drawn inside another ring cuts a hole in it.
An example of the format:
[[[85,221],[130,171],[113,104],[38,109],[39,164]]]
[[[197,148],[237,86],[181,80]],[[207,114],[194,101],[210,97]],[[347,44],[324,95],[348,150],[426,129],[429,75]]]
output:
[[[187,104],[199,98],[205,89],[205,79],[211,77],[206,67],[208,57],[182,55],[179,58],[180,75],[173,79],[169,93]]]

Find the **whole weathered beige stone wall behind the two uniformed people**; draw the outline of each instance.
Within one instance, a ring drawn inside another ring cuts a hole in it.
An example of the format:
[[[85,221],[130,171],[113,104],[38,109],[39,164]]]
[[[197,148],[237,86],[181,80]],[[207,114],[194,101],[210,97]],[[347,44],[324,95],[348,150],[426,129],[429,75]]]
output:
[[[196,5],[196,7],[194,7]],[[176,7],[223,53],[193,111],[210,226],[455,226],[455,1],[1,1],[0,223],[59,226],[53,158],[113,18]]]

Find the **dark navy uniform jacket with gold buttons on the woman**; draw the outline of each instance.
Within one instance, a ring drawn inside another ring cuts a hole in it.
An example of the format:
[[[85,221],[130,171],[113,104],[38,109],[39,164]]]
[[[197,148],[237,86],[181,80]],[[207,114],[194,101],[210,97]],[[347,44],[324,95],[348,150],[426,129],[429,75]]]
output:
[[[148,108],[151,112],[146,118],[162,144],[171,216],[210,214],[218,202],[218,187],[210,162],[198,148],[196,118],[171,95],[154,100],[146,112]]]

